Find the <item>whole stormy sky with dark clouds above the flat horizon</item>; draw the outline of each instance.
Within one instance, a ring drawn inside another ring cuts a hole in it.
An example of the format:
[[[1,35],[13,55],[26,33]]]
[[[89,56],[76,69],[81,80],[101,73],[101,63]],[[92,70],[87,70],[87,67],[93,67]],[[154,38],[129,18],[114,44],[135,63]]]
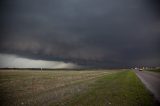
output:
[[[0,13],[0,67],[160,66],[159,0],[2,0]]]

